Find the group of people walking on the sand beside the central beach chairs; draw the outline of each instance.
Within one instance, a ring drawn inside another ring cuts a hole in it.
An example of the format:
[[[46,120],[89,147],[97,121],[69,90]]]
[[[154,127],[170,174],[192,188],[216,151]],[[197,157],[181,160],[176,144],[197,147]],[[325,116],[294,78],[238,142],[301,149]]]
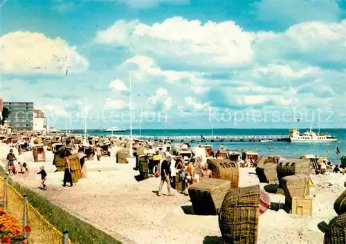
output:
[[[161,196],[162,188],[165,183],[167,184],[168,196],[172,196],[171,188],[175,188],[175,179],[178,176],[179,180],[185,181],[185,194],[188,194],[188,188],[194,182],[205,178],[212,178],[212,171],[208,169],[208,164],[204,165],[199,172],[199,177],[197,177],[194,169],[195,162],[196,160],[194,158],[190,158],[188,165],[185,165],[181,158],[176,158],[174,160],[172,156],[167,156],[163,159],[159,169],[156,169],[156,176],[161,177],[160,185],[158,187],[158,196]]]

